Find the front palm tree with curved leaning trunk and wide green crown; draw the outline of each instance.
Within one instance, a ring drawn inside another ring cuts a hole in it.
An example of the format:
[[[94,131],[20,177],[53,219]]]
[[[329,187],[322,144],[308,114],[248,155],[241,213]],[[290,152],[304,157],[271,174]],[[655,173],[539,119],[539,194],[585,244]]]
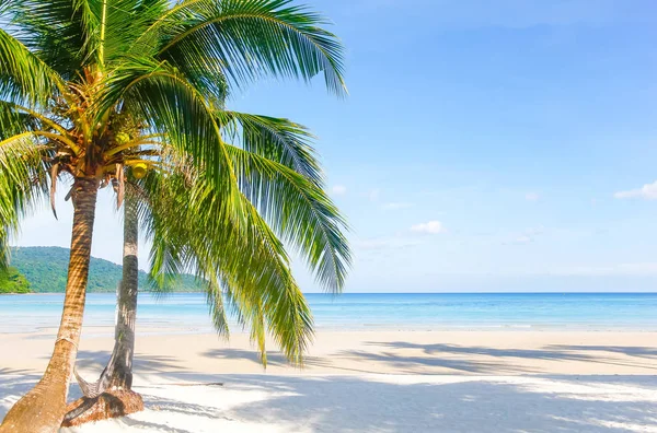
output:
[[[254,137],[251,131],[266,129],[258,124],[265,118],[227,112],[223,101],[228,83],[266,74],[310,80],[323,72],[328,90],[343,94],[342,46],[319,27],[321,16],[288,0],[0,0],[0,16],[11,22],[0,28],[0,264],[21,216],[53,196],[58,182],[72,184],[74,206],[53,356],[0,431],[55,431],[61,422],[96,195],[111,184],[120,190],[125,167],[168,172],[165,184],[178,188],[189,180],[176,164],[194,167],[195,195],[172,204],[214,215],[194,220],[212,243],[187,245],[180,242],[185,227],[160,227],[158,220],[153,226],[165,236],[154,245],[153,268],[165,281],[196,261],[216,308],[222,308],[220,289],[228,288],[243,320],[261,328],[254,335],[269,330],[300,361],[312,319],[267,222],[306,251],[327,289],[338,290],[349,258],[342,220],[307,150]],[[240,140],[230,144],[231,137]],[[159,156],[153,149],[161,147],[175,156]],[[152,187],[170,188],[162,184]],[[234,254],[218,267],[214,254],[224,249]]]

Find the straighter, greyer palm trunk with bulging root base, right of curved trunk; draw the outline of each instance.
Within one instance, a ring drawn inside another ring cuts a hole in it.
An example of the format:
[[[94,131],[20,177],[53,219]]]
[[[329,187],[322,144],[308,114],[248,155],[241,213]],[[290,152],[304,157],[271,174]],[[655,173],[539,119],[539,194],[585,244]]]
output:
[[[81,425],[143,410],[141,396],[131,390],[139,285],[138,236],[137,200],[127,194],[124,200],[123,279],[116,291],[114,350],[99,382],[91,387],[93,395],[85,395],[68,406],[62,426]]]

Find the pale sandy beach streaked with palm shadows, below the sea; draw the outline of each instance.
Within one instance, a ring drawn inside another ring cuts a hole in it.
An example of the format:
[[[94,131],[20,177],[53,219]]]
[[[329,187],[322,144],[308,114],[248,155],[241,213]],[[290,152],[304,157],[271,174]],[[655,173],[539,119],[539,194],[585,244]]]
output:
[[[85,328],[88,379],[111,336]],[[51,330],[0,335],[0,418],[53,341]],[[264,371],[243,333],[140,330],[135,389],[147,410],[68,431],[657,432],[656,342],[630,331],[319,331],[304,370],[273,350]]]

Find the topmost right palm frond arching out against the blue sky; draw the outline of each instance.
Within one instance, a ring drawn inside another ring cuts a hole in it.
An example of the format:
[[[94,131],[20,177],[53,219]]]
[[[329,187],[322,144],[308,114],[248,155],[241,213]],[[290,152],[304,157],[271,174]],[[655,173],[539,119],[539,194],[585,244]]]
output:
[[[344,95],[343,46],[326,20],[290,0],[199,0],[159,22],[160,57],[180,69],[219,71],[234,85],[265,75],[310,81]]]

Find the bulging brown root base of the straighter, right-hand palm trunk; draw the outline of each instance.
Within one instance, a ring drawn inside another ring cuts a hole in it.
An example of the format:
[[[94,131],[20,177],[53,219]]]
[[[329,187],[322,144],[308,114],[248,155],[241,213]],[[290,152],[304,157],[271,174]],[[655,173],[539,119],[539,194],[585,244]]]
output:
[[[61,426],[125,417],[143,410],[141,396],[131,390],[107,390],[95,398],[82,397],[68,405]]]

